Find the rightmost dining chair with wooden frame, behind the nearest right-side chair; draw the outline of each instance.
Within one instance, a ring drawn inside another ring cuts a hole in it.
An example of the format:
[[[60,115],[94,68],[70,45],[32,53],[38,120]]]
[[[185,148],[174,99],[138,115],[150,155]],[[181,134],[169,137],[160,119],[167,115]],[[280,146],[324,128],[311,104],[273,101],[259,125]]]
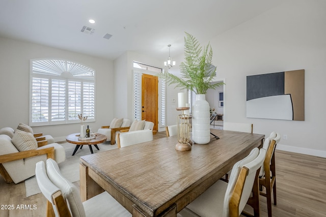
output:
[[[275,148],[281,139],[279,133],[271,132],[265,138],[263,149],[266,150],[266,157],[259,173],[259,194],[266,197],[267,213],[271,217],[271,193],[273,192],[274,205],[276,205],[276,168],[275,168]],[[265,192],[263,192],[265,187]]]

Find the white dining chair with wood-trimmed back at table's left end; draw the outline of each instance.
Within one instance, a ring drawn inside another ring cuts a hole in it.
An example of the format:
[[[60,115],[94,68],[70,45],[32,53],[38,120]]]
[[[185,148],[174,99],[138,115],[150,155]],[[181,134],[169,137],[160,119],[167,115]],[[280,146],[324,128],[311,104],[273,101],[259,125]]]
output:
[[[46,216],[131,216],[110,194],[103,192],[85,202],[77,187],[63,177],[52,159],[36,164],[36,180],[47,199]]]

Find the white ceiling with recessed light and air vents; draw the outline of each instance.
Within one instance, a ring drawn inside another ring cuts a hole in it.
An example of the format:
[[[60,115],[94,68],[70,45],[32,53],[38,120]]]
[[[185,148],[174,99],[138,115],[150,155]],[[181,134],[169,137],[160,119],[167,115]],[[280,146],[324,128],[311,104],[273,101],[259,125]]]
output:
[[[282,0],[0,0],[0,36],[115,59],[127,50],[166,60],[184,32],[201,43]],[[95,24],[88,22],[94,19]],[[81,32],[83,26],[93,34]],[[111,34],[110,39],[104,39]]]

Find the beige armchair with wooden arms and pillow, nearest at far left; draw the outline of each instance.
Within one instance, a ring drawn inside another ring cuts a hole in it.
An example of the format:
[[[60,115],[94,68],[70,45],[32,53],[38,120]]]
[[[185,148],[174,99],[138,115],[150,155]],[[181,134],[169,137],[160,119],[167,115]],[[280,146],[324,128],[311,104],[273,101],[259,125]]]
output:
[[[37,142],[31,133],[16,130],[13,138],[0,135],[0,174],[7,183],[19,183],[35,175],[35,165],[48,158],[65,161],[65,149],[57,144]]]

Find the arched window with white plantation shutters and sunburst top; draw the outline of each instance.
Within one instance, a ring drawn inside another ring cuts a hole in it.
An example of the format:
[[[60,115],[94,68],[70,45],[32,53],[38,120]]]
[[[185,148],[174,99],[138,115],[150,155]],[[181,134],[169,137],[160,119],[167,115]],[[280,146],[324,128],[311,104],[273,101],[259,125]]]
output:
[[[30,126],[95,121],[95,70],[63,59],[32,59]]]

